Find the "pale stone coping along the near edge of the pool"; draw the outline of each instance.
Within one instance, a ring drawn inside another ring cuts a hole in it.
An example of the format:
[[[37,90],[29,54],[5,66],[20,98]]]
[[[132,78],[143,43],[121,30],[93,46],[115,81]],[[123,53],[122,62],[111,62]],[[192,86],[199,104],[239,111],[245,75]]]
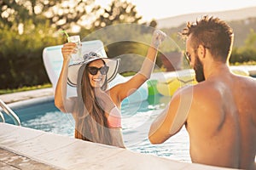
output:
[[[20,130],[23,133],[31,133],[31,131],[33,131],[34,133],[38,133],[38,135],[40,134],[41,139],[44,139],[46,137],[49,138],[49,135],[48,135],[49,133],[44,132],[44,134],[46,134],[46,135],[42,135],[43,132],[41,132],[40,130],[36,130],[36,129],[31,130],[28,127],[19,127],[19,126],[15,126],[15,125],[3,123],[3,122],[0,123],[0,127],[1,127],[1,129],[13,128],[14,130]],[[20,138],[19,134],[20,133],[9,133],[9,137],[4,138],[4,135],[2,133],[2,135],[0,134],[0,139],[2,141],[4,141],[4,140],[8,141],[10,139],[14,139],[13,142],[15,142],[15,139]],[[225,168],[225,167],[212,167],[212,166],[195,164],[195,163],[174,161],[171,159],[167,159],[165,157],[153,156],[150,154],[145,155],[145,154],[137,153],[137,152],[134,152],[131,150],[115,148],[113,146],[107,146],[104,144],[84,142],[83,140],[72,139],[70,137],[57,135],[54,133],[50,133],[50,136],[51,137],[49,139],[47,139],[48,141],[50,141],[50,140],[54,141],[55,138],[59,138],[59,139],[63,139],[63,140],[68,139],[68,140],[70,140],[71,145],[69,145],[69,147],[67,147],[67,150],[66,150],[66,148],[62,148],[60,150],[51,151],[51,152],[49,152],[49,156],[47,155],[47,153],[44,153],[43,158],[42,158],[42,156],[40,158],[40,156],[37,154],[34,154],[34,156],[32,156],[32,154],[27,155],[26,151],[24,151],[24,148],[26,148],[26,147],[27,147],[27,149],[30,149],[31,152],[32,152],[32,150],[37,150],[37,151],[40,150],[40,148],[38,148],[37,144],[33,144],[35,141],[37,141],[34,139],[27,139],[26,143],[20,142],[20,147],[22,148],[23,151],[19,150],[19,146],[18,147],[16,146],[16,148],[15,148],[14,145],[12,146],[12,144],[9,144],[9,143],[3,144],[4,142],[2,142],[0,144],[0,148],[3,148],[4,150],[9,150],[11,152],[14,152],[17,155],[20,155],[20,156],[26,156],[34,161],[44,163],[51,167],[56,167],[56,168],[61,168],[61,169],[69,169],[70,167],[73,167],[72,169],[80,169],[81,166],[91,167],[91,169],[102,169],[101,167],[106,166],[106,163],[108,161],[111,161],[111,164],[106,169],[112,169],[112,168],[116,169],[116,168],[119,168],[119,166],[122,167],[121,169],[131,169],[131,166],[134,167],[136,165],[140,165],[137,169],[143,169],[140,167],[152,167],[152,166],[154,167],[156,165],[155,163],[157,163],[157,166],[159,166],[160,169],[167,169],[166,167],[170,168],[172,166],[179,167],[179,168],[172,167],[174,169],[206,169],[206,168],[212,169],[212,170],[214,170],[214,169],[230,169],[230,168]],[[31,144],[32,147],[27,145],[28,143]],[[55,142],[49,142],[48,144],[55,144]],[[49,146],[54,147],[53,145],[49,145]],[[73,151],[74,151],[74,150],[72,150],[73,148],[76,148],[76,147],[80,148],[81,146],[84,147],[84,150],[87,150],[87,153],[81,152],[81,150],[75,150],[75,151],[78,151],[78,155],[76,155],[76,158],[73,159],[73,157],[68,157],[68,156],[72,156]],[[44,149],[45,148],[43,148],[43,149],[41,148],[41,150],[44,150]],[[100,153],[100,152],[95,153],[96,150],[100,150],[102,153]],[[63,152],[67,153],[66,156],[61,154]],[[95,153],[95,155],[89,154],[88,152]],[[117,153],[117,154],[113,155],[112,158],[110,158],[109,157],[110,152]],[[52,156],[52,158],[55,159],[55,161],[48,159],[49,157],[51,157],[50,154],[56,154],[56,156]],[[89,155],[86,155],[86,154],[89,154]],[[100,154],[100,156],[98,154]],[[106,157],[105,157],[105,155],[106,155]],[[102,160],[99,159],[99,160],[94,160],[93,162],[88,162],[89,156],[90,157],[95,156],[95,158],[101,157]],[[119,156],[126,156],[126,158],[124,158],[124,157],[120,158]],[[69,161],[69,164],[67,163],[67,165],[65,167],[64,165],[61,164],[62,161]],[[114,161],[116,161],[116,162],[114,162]],[[108,162],[108,164],[109,164],[109,162]],[[60,165],[62,167],[60,167]],[[79,167],[76,167],[76,165],[78,165]]]

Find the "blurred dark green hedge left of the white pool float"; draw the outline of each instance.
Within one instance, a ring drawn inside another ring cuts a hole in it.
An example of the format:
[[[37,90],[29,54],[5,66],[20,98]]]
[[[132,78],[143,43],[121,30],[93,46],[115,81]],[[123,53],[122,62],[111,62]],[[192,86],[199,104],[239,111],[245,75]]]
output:
[[[63,37],[47,23],[35,27],[28,21],[24,27],[23,34],[19,34],[16,26],[0,30],[0,89],[49,83],[43,50],[63,43]]]

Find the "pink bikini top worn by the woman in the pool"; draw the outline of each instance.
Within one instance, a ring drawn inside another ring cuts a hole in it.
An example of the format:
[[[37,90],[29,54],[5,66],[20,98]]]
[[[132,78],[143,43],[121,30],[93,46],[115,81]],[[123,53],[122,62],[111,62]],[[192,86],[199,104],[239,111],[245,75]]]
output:
[[[108,127],[121,128],[121,111],[114,106],[108,116]]]

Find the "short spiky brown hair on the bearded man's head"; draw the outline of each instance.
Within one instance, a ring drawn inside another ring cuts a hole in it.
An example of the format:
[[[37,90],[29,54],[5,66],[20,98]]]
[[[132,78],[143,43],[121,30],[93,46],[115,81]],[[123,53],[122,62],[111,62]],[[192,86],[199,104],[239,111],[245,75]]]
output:
[[[223,20],[206,15],[195,23],[188,22],[181,34],[185,38],[191,35],[193,48],[203,45],[214,59],[226,62],[230,58],[233,31]]]

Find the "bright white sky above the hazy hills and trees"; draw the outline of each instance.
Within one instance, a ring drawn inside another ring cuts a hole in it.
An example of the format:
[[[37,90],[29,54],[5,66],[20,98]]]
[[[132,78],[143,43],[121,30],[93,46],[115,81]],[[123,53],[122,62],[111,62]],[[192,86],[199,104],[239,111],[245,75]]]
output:
[[[183,0],[183,1],[143,1],[143,0],[127,0],[134,4],[138,14],[143,16],[143,20],[149,21],[152,19],[160,20],[168,17],[173,17],[181,14],[192,13],[212,13],[225,10],[233,10],[239,8],[256,7],[256,1],[252,0]],[[111,0],[96,0],[96,4],[106,8],[111,3]]]

